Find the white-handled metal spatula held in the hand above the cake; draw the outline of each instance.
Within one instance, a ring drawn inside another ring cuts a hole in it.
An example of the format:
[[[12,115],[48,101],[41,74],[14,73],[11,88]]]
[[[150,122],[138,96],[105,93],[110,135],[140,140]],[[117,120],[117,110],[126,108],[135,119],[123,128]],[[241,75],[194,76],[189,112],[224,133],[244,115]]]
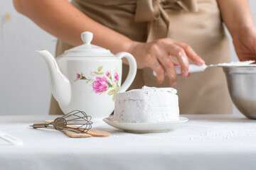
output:
[[[244,66],[244,65],[255,65],[252,64],[253,60],[246,61],[246,62],[230,62],[230,63],[220,63],[220,64],[210,64],[210,65],[196,65],[196,64],[189,64],[188,67],[188,72],[193,73],[193,72],[203,72],[206,70],[208,67],[225,67],[225,66]],[[176,74],[181,74],[181,66],[175,66],[175,71]],[[156,76],[156,72],[153,72],[154,76]]]

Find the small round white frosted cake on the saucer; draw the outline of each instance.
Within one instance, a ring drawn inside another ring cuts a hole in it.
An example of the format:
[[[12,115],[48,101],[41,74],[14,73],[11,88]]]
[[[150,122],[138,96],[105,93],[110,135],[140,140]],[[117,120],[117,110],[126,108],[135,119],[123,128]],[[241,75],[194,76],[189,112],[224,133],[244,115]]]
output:
[[[119,93],[114,101],[114,120],[151,123],[178,120],[178,96],[173,88],[144,86]]]

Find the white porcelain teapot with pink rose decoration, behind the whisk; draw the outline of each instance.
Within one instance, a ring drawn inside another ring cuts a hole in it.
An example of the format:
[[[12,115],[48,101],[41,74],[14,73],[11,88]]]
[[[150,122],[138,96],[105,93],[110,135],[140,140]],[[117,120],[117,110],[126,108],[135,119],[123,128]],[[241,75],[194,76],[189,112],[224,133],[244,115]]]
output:
[[[51,91],[63,113],[80,110],[102,121],[114,110],[114,98],[126,91],[137,73],[137,63],[128,52],[113,55],[110,50],[91,45],[92,33],[81,34],[85,43],[53,57],[47,50],[37,51],[48,64]],[[121,86],[122,57],[129,62],[129,73]]]

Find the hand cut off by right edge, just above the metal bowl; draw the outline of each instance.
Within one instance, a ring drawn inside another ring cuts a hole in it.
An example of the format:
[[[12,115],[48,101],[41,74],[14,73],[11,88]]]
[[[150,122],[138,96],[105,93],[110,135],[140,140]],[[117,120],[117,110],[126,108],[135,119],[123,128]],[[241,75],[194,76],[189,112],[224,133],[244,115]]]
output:
[[[233,44],[240,61],[256,60],[256,27],[241,29],[233,37]]]

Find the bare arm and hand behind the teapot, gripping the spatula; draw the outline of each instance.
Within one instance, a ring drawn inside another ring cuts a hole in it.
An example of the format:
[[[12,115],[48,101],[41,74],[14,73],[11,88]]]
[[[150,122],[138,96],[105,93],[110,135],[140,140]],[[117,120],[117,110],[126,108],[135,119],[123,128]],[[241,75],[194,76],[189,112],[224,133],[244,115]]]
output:
[[[93,21],[68,1],[14,0],[14,6],[18,12],[31,18],[48,33],[73,46],[82,43],[80,33],[83,31],[88,30],[95,33],[92,44],[105,47],[113,53],[120,51],[132,53],[137,60],[138,68],[150,67],[153,69],[159,83],[164,81],[164,72],[166,72],[170,84],[174,85],[176,82],[174,65],[178,64],[181,65],[181,75],[183,77],[188,76],[188,58],[196,64],[204,64],[196,52],[182,42],[176,42],[170,38],[149,43],[134,42],[126,36]],[[178,62],[174,62],[171,56],[177,57]]]

